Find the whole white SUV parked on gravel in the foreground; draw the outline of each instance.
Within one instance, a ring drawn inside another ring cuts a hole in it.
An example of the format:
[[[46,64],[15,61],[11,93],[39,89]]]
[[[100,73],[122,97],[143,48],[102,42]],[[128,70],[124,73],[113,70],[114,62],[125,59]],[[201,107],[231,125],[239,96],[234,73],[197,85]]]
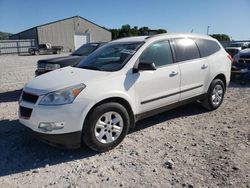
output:
[[[111,41],[79,66],[28,82],[19,120],[54,145],[97,151],[117,146],[135,122],[199,101],[218,108],[231,60],[217,40],[195,34],[161,34]]]

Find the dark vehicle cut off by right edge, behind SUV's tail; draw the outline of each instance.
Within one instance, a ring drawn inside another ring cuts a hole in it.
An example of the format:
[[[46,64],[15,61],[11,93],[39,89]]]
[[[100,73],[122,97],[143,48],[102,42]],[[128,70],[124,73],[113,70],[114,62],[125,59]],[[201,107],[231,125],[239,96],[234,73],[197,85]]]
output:
[[[250,78],[250,48],[241,50],[234,56],[232,77],[240,77],[241,83],[245,83]]]

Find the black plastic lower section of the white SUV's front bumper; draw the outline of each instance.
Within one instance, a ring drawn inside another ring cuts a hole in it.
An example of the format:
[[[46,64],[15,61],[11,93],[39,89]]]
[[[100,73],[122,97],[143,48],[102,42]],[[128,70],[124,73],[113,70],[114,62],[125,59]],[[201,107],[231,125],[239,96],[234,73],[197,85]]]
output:
[[[35,138],[45,142],[51,146],[66,149],[77,149],[81,147],[82,132],[72,132],[66,134],[44,134],[35,132],[32,129],[23,125]]]

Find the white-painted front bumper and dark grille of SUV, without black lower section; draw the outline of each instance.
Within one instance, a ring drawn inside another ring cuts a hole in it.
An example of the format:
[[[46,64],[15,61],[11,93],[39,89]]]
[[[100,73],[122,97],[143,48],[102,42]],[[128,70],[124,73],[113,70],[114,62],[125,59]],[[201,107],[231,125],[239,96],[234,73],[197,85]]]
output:
[[[31,94],[33,93],[33,94]],[[35,95],[33,89],[24,88],[19,100],[19,121],[32,131],[46,135],[71,134],[82,132],[83,123],[94,101],[76,98],[65,105],[39,105],[44,95]],[[34,97],[36,96],[36,98]],[[48,128],[46,125],[59,125]],[[45,125],[45,127],[44,127]]]

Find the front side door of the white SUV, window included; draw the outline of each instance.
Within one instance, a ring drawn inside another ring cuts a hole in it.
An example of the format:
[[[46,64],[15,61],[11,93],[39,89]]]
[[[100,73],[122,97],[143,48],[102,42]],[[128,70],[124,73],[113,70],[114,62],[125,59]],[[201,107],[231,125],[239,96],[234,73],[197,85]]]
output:
[[[180,70],[174,63],[168,40],[151,44],[139,57],[139,62],[154,62],[156,70],[140,71],[135,84],[139,113],[178,102]]]

